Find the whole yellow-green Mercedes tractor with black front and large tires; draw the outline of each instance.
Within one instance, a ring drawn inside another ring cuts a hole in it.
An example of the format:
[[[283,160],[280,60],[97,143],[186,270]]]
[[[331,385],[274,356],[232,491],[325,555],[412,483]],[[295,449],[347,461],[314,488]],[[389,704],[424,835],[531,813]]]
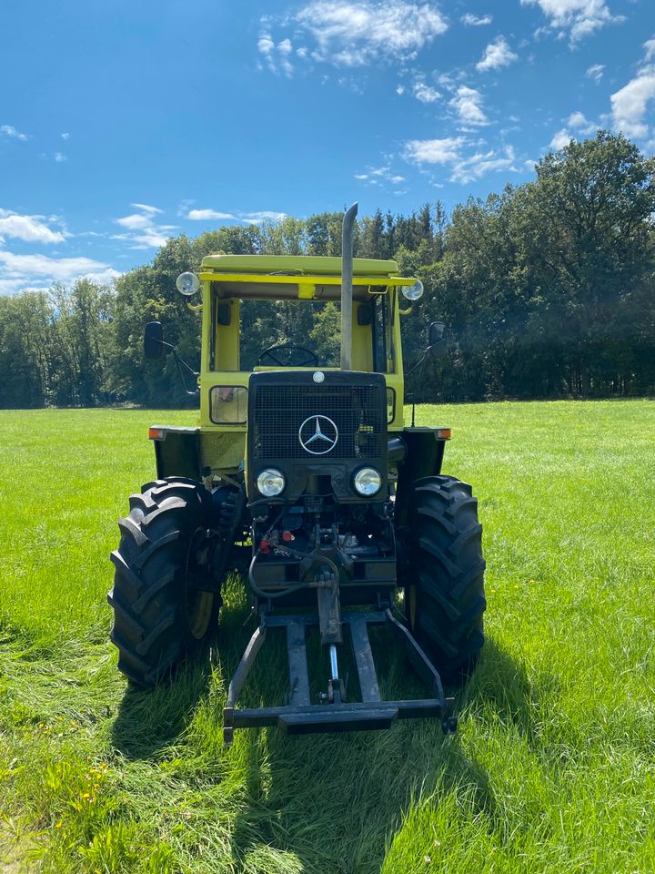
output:
[[[344,216],[342,259],[210,255],[177,279],[182,294],[202,293],[200,425],[149,429],[157,479],[131,496],[118,523],[111,639],[119,669],[154,686],[214,634],[227,574],[246,575],[258,625],[229,685],[227,744],[238,727],[300,734],[428,716],[454,731],[442,681],[468,676],[483,643],[477,501],[440,473],[450,430],[403,418],[400,320],[422,286],[398,276],[395,261],[352,258],[356,214],[354,204]],[[253,300],[332,302],[340,366],[306,341],[261,350],[242,368],[253,337],[240,330],[240,309]],[[443,353],[442,335],[443,325],[430,325],[427,356]],[[166,348],[161,324],[150,322],[146,357]],[[387,626],[407,648],[427,698],[382,699],[369,625]],[[240,708],[275,628],[287,632],[287,704]],[[319,637],[328,675],[317,696],[308,636]],[[358,675],[348,696],[339,666],[347,645]]]

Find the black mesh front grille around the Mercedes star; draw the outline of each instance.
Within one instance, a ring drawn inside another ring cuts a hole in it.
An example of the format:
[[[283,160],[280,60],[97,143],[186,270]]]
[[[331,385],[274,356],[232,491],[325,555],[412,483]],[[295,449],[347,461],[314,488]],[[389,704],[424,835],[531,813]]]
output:
[[[249,425],[254,457],[314,462],[378,458],[386,412],[375,385],[259,385]],[[300,426],[313,416],[327,416],[338,428],[337,444],[324,454],[307,452],[298,440]]]

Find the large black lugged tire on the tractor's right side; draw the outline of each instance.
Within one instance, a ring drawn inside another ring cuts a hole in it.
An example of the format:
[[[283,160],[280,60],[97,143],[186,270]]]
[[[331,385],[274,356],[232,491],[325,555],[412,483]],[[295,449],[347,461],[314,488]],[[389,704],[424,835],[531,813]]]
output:
[[[467,483],[428,476],[414,483],[409,514],[408,623],[444,683],[457,684],[473,670],[484,643],[487,602],[478,501]]]

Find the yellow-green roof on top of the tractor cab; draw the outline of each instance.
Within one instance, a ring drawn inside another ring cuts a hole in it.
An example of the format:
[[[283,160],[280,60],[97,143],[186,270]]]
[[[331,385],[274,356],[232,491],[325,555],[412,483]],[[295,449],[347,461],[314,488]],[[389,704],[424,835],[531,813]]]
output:
[[[341,259],[313,255],[207,255],[200,278],[220,298],[256,300],[339,300]],[[411,285],[398,276],[396,261],[353,259],[353,297],[367,300],[389,287]]]

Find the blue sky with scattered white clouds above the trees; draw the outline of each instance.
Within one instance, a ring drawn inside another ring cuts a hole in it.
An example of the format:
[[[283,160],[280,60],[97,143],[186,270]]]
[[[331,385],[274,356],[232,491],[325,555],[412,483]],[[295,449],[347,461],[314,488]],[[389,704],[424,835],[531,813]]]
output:
[[[653,0],[0,6],[0,293],[166,237],[449,210],[597,126],[655,149]]]

